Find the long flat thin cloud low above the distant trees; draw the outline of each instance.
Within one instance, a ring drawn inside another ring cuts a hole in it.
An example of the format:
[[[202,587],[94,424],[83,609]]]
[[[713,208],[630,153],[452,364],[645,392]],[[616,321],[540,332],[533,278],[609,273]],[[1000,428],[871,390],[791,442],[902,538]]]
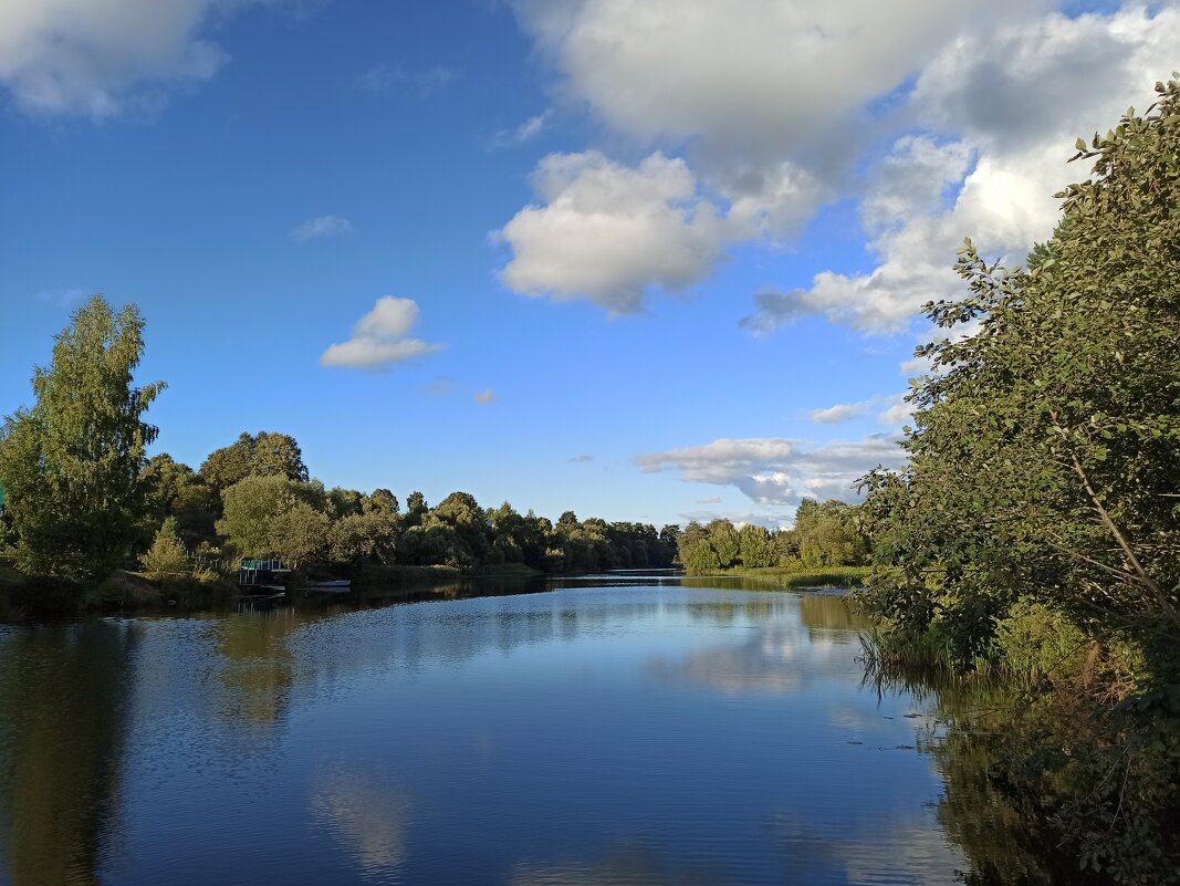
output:
[[[635,459],[649,473],[678,471],[686,483],[734,486],[760,505],[795,505],[801,498],[852,501],[859,477],[903,461],[897,438],[889,434],[819,446],[784,438],[721,439]]]

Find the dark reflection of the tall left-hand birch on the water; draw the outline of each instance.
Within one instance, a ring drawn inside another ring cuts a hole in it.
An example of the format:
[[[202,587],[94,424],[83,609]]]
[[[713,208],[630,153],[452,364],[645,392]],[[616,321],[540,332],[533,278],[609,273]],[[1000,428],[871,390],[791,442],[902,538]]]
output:
[[[0,643],[0,846],[13,886],[99,881],[118,832],[133,626],[19,631]]]

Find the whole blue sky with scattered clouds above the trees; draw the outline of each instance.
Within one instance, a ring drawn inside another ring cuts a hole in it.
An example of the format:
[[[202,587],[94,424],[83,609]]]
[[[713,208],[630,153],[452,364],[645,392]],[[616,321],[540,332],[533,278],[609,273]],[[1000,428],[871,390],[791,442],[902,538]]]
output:
[[[1180,0],[0,0],[0,413],[93,293],[152,452],[789,525],[897,467],[922,306],[1011,264]]]

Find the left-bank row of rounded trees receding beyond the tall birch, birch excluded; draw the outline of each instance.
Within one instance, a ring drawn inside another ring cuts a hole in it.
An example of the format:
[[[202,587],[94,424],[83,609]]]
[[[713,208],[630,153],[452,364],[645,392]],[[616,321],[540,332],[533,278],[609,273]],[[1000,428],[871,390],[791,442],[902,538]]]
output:
[[[297,566],[445,565],[460,570],[522,564],[545,572],[667,567],[678,527],[578,520],[557,523],[505,501],[483,507],[452,492],[433,507],[412,492],[402,508],[387,488],[324,488],[309,480],[299,444],[288,434],[243,433],[198,471],[168,454],[143,471],[149,508],[144,546],[157,554],[178,543],[206,556],[281,557]]]

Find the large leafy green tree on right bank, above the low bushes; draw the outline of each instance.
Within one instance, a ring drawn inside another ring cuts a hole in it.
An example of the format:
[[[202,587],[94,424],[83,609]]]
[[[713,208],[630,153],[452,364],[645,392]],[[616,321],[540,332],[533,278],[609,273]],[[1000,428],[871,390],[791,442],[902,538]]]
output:
[[[866,478],[886,569],[866,599],[904,631],[937,623],[968,662],[1035,595],[1180,674],[1180,85],[1079,153],[1031,270],[966,243],[969,294],[927,306],[952,333],[910,395],[910,467]]]

